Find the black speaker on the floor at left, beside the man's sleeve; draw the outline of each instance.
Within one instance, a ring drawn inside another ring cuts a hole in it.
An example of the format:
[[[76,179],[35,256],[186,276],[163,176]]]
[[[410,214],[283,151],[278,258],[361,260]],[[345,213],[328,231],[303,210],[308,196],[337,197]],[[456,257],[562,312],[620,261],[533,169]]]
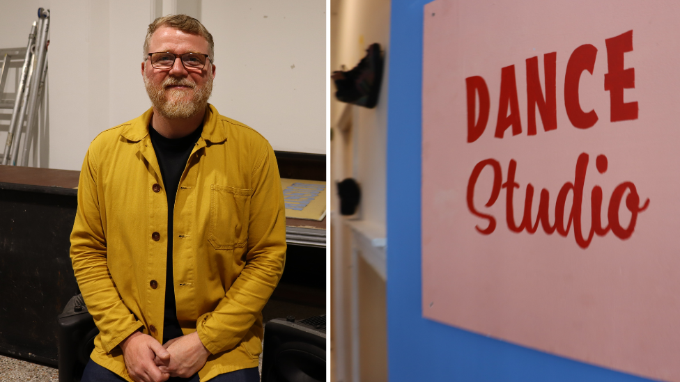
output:
[[[95,348],[99,329],[82,294],[73,296],[59,317],[59,382],[79,382]]]

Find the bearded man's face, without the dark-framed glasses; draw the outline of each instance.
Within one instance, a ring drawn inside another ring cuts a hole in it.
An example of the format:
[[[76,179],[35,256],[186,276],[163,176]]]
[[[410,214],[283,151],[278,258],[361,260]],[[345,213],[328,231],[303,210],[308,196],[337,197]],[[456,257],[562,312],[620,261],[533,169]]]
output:
[[[208,54],[208,41],[200,35],[169,26],[157,29],[149,43],[149,53]],[[165,118],[190,118],[203,113],[212,92],[215,65],[208,59],[203,70],[186,70],[178,58],[170,69],[153,67],[149,58],[141,64],[146,93],[155,109]]]

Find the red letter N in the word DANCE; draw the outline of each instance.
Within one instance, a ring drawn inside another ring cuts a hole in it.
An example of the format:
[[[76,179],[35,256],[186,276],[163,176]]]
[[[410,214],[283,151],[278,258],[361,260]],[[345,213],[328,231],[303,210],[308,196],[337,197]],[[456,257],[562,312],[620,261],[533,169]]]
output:
[[[536,106],[541,113],[543,130],[546,132],[557,129],[557,93],[555,83],[557,77],[557,52],[543,56],[543,70],[545,72],[546,97],[541,90],[539,79],[539,58],[527,58],[527,134],[536,135]]]

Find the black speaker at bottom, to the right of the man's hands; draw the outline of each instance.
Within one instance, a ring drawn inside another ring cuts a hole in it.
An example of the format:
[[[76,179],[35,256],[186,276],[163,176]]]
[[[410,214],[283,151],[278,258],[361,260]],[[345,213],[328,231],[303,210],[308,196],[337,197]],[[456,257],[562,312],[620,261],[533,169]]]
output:
[[[326,380],[326,315],[295,321],[272,319],[265,325],[262,382]]]

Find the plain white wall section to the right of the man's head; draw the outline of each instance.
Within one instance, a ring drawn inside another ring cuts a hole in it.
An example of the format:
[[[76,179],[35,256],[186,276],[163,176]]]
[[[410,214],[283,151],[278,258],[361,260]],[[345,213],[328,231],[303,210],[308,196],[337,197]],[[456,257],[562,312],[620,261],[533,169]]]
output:
[[[324,0],[202,1],[215,38],[220,113],[275,150],[325,153]]]

